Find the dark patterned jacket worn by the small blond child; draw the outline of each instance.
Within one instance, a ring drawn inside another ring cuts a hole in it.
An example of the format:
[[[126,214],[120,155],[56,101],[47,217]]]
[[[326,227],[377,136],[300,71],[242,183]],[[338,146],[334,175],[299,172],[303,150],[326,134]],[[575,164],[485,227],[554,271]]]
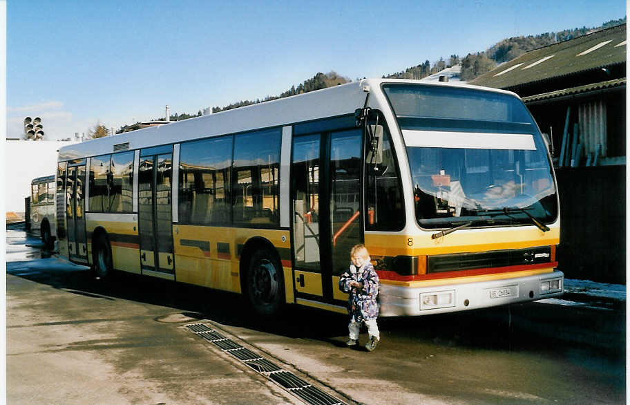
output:
[[[350,281],[363,283],[363,288],[351,288]],[[374,271],[370,258],[367,263],[357,269],[350,265],[350,269],[341,274],[339,290],[348,294],[348,313],[354,317],[354,321],[370,321],[379,316],[379,304],[376,296],[379,295],[379,276]]]

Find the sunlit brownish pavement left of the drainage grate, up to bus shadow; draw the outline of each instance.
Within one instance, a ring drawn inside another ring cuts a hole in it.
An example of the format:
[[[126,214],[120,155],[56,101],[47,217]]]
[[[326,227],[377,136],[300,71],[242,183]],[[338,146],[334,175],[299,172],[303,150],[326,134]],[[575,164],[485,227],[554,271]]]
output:
[[[9,403],[300,403],[180,328],[196,319],[75,290],[68,278],[88,274],[58,272],[51,284],[8,275]]]

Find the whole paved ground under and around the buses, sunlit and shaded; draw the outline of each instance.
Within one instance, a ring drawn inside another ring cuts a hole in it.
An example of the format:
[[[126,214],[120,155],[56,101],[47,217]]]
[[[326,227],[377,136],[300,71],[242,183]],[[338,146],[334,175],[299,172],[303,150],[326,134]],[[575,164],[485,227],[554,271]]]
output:
[[[282,404],[300,400],[184,328],[204,323],[345,403],[621,404],[624,308],[533,303],[383,319],[372,353],[345,348],[344,316],[251,316],[239,296],[83,267],[7,247],[11,404]],[[365,335],[362,336],[365,341]],[[555,347],[554,347],[555,346]]]

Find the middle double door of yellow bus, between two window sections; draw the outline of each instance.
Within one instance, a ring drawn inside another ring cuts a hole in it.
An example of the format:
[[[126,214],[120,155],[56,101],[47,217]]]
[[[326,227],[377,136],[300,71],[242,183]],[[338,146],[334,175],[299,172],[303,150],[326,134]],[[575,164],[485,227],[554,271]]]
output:
[[[140,267],[142,274],[175,279],[171,220],[173,153],[153,154],[159,152],[153,149],[140,151],[138,170]]]

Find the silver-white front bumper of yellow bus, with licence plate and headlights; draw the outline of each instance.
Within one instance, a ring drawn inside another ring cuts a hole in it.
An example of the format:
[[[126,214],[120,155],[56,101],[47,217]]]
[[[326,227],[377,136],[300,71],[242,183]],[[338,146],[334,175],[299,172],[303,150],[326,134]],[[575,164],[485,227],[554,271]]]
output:
[[[551,273],[473,283],[404,287],[381,283],[379,317],[410,317],[488,308],[560,296],[564,274]]]

